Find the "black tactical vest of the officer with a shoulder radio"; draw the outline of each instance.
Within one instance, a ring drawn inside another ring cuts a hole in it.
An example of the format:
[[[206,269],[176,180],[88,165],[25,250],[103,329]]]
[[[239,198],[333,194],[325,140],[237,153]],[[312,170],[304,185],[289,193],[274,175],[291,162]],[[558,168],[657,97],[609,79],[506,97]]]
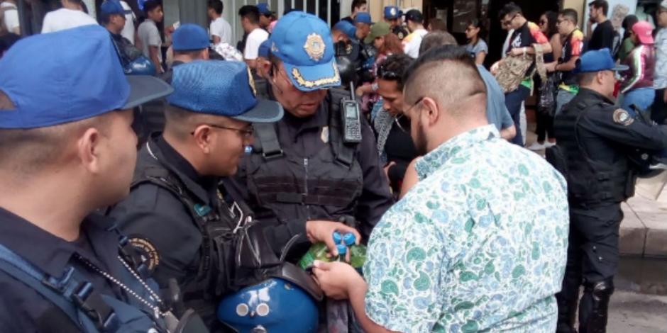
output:
[[[348,94],[330,90],[325,100],[329,105],[329,149],[312,157],[302,158],[294,148],[282,147],[275,124],[254,125],[255,147],[246,157],[246,176],[248,192],[258,204],[258,218],[285,222],[355,215],[363,170],[355,158],[358,145],[344,143],[341,135],[340,102]]]

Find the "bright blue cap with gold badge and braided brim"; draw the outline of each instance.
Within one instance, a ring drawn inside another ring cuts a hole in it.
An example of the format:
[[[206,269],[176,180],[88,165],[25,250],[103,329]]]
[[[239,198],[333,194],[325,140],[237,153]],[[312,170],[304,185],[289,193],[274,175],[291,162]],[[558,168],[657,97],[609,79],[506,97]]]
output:
[[[331,32],[319,17],[292,11],[278,20],[269,40],[272,55],[282,60],[297,89],[314,91],[341,85]]]

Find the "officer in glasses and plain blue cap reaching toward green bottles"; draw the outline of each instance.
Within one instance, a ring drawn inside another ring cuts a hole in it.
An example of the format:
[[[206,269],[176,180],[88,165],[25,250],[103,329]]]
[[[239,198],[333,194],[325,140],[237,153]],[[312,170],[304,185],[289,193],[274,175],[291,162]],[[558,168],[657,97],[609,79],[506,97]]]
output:
[[[148,260],[160,288],[175,278],[185,307],[197,310],[215,331],[221,296],[242,287],[237,280],[246,278],[236,275],[234,256],[237,227],[251,215],[243,201],[218,188],[219,177],[232,176],[253,143],[250,123],[275,122],[283,112],[280,104],[255,97],[243,62],[182,64],[174,69],[172,86],[165,131],[151,135],[140,149],[130,195],[109,215]],[[292,222],[260,240],[275,256],[294,237],[326,242],[336,230],[354,231],[341,223]]]

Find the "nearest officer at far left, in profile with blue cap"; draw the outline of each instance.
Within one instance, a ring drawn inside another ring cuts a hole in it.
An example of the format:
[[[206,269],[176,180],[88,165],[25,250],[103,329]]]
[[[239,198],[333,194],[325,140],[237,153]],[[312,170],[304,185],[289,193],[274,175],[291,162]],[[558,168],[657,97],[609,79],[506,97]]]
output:
[[[0,331],[166,332],[157,286],[91,213],[128,192],[131,109],[171,88],[126,78],[100,26],[23,39],[0,72]]]

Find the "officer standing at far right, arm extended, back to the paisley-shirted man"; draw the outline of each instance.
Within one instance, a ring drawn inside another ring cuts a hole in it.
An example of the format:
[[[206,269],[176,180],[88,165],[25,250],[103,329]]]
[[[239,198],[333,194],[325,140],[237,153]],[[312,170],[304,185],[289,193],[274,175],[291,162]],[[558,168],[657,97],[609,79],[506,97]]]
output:
[[[554,156],[564,157],[566,167],[557,167],[566,175],[570,203],[568,263],[556,295],[558,332],[575,332],[582,283],[578,332],[605,332],[619,260],[620,203],[634,195],[629,153],[667,147],[666,125],[644,123],[614,105],[614,71],[624,69],[608,49],[586,52],[575,69],[580,91],[556,115]]]

